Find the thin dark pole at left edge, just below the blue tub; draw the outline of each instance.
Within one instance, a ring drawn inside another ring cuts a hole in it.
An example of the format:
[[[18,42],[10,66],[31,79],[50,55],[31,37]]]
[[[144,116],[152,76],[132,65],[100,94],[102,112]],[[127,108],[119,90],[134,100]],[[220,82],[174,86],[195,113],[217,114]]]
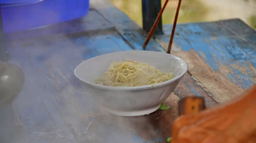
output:
[[[0,9],[0,60],[6,61],[6,49],[3,35],[2,11]]]

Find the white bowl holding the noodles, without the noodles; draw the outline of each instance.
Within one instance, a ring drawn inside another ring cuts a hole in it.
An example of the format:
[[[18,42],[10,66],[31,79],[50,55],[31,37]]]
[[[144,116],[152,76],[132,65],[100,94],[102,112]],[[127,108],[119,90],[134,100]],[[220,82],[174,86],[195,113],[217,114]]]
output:
[[[113,61],[136,60],[155,66],[162,72],[172,72],[171,80],[153,86],[112,87],[93,84],[102,76]],[[80,63],[75,75],[87,92],[99,99],[112,114],[140,116],[159,109],[161,103],[174,91],[188,70],[187,64],[172,54],[155,51],[118,51],[104,54]]]

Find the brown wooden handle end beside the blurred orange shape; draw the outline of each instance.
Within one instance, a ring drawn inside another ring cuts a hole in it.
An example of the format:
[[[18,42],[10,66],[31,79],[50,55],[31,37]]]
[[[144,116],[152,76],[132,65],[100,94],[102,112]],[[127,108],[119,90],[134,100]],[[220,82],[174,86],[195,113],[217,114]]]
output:
[[[186,97],[181,99],[178,104],[179,116],[182,114],[198,113],[205,108],[203,97]]]

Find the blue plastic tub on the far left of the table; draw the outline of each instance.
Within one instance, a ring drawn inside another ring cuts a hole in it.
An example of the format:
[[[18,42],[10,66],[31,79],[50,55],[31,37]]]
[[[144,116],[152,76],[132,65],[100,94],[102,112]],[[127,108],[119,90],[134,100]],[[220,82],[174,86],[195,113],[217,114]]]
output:
[[[74,20],[89,11],[89,0],[1,0],[1,5],[4,33]]]

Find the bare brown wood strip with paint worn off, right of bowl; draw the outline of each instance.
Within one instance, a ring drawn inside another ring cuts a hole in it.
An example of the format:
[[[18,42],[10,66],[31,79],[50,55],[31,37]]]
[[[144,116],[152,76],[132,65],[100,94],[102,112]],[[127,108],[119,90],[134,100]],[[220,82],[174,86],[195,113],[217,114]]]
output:
[[[163,43],[163,46],[167,48],[167,43]],[[191,73],[218,102],[224,103],[244,92],[243,88],[232,83],[223,74],[214,72],[194,50],[172,51],[172,54],[186,61],[189,65],[189,73]]]

